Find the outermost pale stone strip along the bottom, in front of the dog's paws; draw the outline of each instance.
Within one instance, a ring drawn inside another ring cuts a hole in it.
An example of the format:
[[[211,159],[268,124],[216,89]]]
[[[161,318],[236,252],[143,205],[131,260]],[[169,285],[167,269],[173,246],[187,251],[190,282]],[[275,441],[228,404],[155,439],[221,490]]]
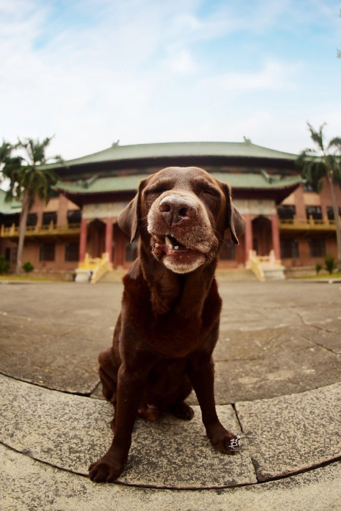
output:
[[[321,511],[339,508],[341,463],[280,481],[219,491],[146,490],[122,484],[94,484],[0,445],[0,478],[0,502],[6,511]]]

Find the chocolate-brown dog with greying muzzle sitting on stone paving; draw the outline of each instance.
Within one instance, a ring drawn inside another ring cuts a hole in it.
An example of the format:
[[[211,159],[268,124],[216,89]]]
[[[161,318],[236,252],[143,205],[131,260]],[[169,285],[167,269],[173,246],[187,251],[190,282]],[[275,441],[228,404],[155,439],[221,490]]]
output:
[[[116,409],[108,452],[89,477],[111,482],[127,461],[135,417],[163,411],[192,419],[184,400],[194,388],[213,447],[234,454],[236,436],[219,422],[212,352],[221,299],[214,271],[224,230],[234,243],[245,221],[228,185],[196,167],[169,167],[141,181],[118,223],[139,257],[123,278],[122,312],[113,345],[99,356],[104,397]]]

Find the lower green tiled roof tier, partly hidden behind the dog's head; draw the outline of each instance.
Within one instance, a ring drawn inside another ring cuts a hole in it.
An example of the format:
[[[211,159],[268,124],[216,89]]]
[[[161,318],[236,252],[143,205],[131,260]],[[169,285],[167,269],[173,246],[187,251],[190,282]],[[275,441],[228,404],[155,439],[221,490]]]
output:
[[[59,181],[56,189],[74,194],[94,194],[105,192],[125,192],[136,190],[141,179],[150,174],[138,174],[133,176],[109,176],[97,177],[78,183],[66,183]],[[230,174],[228,172],[212,172],[224,183],[229,183],[234,189],[283,189],[301,182],[300,176],[283,177],[280,175],[268,176],[266,172],[259,174]]]

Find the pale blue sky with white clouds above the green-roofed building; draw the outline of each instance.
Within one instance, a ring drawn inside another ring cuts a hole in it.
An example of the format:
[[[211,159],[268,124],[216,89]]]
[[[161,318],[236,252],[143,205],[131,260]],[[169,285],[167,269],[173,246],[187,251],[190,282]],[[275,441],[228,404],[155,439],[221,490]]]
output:
[[[65,160],[120,145],[341,136],[341,2],[0,0],[0,141]]]

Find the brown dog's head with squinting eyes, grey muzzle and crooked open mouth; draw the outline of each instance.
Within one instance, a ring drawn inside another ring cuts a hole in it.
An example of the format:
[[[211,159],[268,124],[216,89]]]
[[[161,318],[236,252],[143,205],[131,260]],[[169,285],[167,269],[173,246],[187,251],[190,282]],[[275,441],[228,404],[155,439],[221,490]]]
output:
[[[141,181],[118,223],[130,241],[149,238],[154,257],[175,273],[211,263],[225,229],[235,244],[245,230],[230,187],[197,167],[168,167]]]

